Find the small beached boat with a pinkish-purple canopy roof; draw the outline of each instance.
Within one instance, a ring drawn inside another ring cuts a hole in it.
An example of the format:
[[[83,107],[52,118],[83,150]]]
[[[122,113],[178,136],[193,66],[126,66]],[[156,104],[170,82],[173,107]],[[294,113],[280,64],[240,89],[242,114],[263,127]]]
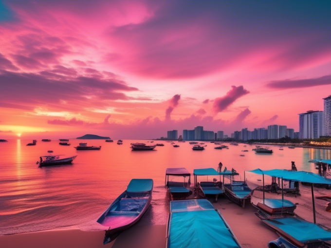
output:
[[[184,182],[169,181],[169,176],[184,177]],[[187,182],[185,177],[188,177]],[[165,188],[172,199],[185,199],[192,195],[190,182],[191,174],[185,168],[167,168],[165,171]]]

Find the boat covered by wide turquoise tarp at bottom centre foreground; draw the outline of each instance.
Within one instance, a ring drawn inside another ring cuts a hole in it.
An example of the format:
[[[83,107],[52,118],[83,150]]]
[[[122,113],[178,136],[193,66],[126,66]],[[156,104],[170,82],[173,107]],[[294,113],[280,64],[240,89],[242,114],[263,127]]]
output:
[[[206,199],[170,201],[166,248],[241,248],[221,212]]]

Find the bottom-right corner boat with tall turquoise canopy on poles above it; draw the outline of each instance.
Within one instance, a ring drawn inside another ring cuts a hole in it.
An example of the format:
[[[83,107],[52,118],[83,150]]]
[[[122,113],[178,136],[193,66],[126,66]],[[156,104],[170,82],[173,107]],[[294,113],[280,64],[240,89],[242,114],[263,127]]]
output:
[[[292,180],[297,182],[306,182],[311,183],[312,187],[312,199],[313,199],[313,219],[314,223],[308,222],[297,215],[286,216],[284,211],[284,206],[286,207],[286,201],[284,201],[284,193],[282,193],[282,206],[281,213],[282,214],[273,214],[270,215],[264,212],[264,209],[260,209],[257,213],[257,216],[261,219],[261,221],[269,226],[270,228],[276,230],[285,240],[290,242],[296,247],[313,247],[313,248],[324,248],[331,246],[331,232],[327,227],[316,224],[316,216],[315,216],[315,201],[314,201],[314,192],[313,185],[314,184],[331,184],[331,180],[318,176],[312,172],[306,171],[288,171],[288,170],[266,170],[263,171],[261,169],[256,169],[252,172],[258,175],[262,175],[263,177],[263,189],[264,189],[264,175],[270,177],[278,177],[281,178],[282,181]],[[283,183],[282,183],[283,185]],[[275,202],[272,199],[268,199],[271,202]],[[278,201],[279,202],[279,201]],[[270,204],[266,202],[265,194],[263,190],[263,205],[272,208]],[[279,208],[279,205],[276,205]],[[281,240],[271,241],[269,243],[269,247],[272,248],[281,248]]]

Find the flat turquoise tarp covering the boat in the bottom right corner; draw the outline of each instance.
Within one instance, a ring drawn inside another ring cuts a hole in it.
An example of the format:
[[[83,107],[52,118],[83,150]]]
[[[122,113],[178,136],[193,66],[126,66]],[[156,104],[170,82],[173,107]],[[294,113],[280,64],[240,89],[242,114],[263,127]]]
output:
[[[313,240],[331,240],[330,231],[324,230],[311,222],[297,218],[279,218],[264,221],[288,233],[302,243]]]

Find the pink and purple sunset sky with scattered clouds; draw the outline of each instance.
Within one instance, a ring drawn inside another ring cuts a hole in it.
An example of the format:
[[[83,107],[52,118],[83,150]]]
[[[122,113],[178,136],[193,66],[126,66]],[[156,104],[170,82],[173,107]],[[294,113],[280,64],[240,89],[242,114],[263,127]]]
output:
[[[0,0],[0,139],[230,135],[331,95],[331,2]]]

